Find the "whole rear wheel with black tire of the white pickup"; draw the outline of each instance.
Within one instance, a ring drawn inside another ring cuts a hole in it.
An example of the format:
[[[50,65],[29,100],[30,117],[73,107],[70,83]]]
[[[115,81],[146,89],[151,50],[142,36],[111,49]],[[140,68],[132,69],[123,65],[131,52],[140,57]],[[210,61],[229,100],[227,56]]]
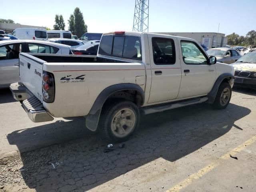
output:
[[[99,129],[107,140],[124,142],[132,136],[139,123],[140,112],[133,102],[109,102],[102,109]]]

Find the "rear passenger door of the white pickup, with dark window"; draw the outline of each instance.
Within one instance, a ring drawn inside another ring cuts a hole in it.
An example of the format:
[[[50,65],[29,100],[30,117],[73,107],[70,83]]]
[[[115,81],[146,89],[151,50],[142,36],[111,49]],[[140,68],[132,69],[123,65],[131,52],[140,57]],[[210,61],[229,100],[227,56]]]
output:
[[[148,40],[152,73],[148,103],[176,99],[181,80],[177,39],[148,34]]]

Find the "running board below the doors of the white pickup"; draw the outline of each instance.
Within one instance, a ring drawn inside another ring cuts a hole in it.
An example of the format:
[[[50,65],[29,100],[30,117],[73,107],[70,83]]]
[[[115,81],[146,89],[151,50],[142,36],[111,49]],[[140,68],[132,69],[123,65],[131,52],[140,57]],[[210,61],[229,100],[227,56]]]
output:
[[[157,107],[152,107],[152,108],[144,108],[144,109],[142,108],[141,112],[142,112],[142,114],[146,115],[146,114],[151,114],[151,113],[156,113],[156,112],[162,112],[162,111],[169,110],[169,109],[193,105],[193,104],[197,104],[197,103],[203,103],[203,102],[206,102],[207,100],[208,100],[208,97],[195,98],[195,99],[187,100],[187,101],[180,102],[180,103],[166,104],[163,106],[157,106]]]

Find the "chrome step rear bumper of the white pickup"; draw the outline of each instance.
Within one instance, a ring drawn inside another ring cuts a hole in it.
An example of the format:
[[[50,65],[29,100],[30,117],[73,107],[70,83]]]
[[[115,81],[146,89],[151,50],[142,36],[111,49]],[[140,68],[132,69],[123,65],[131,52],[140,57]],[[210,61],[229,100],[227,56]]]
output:
[[[43,104],[24,85],[14,83],[10,85],[14,99],[22,102],[22,107],[27,112],[32,122],[52,121],[54,118],[44,109]]]

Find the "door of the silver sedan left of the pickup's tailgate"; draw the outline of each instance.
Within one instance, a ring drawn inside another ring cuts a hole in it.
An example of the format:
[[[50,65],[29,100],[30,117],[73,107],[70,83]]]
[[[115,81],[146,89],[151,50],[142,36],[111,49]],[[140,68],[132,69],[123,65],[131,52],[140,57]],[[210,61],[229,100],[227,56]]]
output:
[[[21,44],[8,44],[0,46],[0,86],[8,86],[18,82],[19,53]]]

